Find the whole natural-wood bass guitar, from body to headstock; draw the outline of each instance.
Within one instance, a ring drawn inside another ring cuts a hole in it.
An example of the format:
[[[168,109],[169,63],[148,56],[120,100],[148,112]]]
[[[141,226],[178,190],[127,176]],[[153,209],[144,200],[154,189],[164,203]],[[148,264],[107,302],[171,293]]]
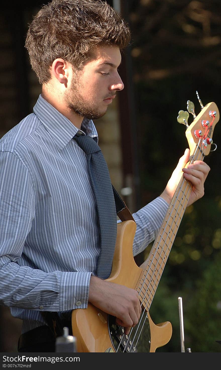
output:
[[[179,111],[177,117],[178,122],[186,125],[186,137],[190,147],[189,163],[203,160],[204,156],[212,151],[213,130],[220,118],[214,102],[203,107],[199,97],[198,100],[201,111],[197,116],[193,102],[188,100],[188,111]],[[193,115],[190,126],[189,113]],[[216,145],[213,151],[215,149]],[[132,253],[136,223],[132,220],[118,223],[112,271],[106,280],[137,290],[142,307],[140,319],[137,325],[130,329],[130,333],[125,335],[124,328],[115,324],[115,317],[91,303],[88,303],[86,309],[72,310],[72,331],[76,337],[77,352],[155,352],[158,347],[169,342],[172,335],[171,323],[154,324],[149,309],[192,187],[182,176],[149,256],[140,267],[136,265]]]

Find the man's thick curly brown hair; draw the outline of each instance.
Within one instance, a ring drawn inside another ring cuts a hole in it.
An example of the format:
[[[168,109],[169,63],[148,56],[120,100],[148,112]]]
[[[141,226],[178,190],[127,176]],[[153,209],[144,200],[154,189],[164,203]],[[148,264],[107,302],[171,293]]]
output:
[[[130,42],[128,24],[106,1],[53,0],[29,25],[25,47],[40,84],[50,78],[50,66],[62,58],[81,70],[96,46],[124,49]]]

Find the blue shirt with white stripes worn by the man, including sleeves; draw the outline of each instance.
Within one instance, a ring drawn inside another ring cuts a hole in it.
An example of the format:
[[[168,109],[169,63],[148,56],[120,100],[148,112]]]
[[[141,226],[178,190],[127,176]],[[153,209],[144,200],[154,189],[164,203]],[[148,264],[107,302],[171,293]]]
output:
[[[0,140],[0,304],[23,320],[23,333],[45,324],[41,311],[88,305],[100,239],[78,131],[40,95]],[[98,137],[91,120],[81,131]],[[133,255],[156,238],[167,208],[158,197],[133,214]]]

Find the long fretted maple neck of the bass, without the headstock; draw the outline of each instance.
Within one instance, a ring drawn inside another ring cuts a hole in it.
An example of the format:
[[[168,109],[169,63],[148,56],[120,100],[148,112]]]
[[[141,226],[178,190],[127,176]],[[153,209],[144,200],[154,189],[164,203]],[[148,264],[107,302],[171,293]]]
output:
[[[197,147],[192,156],[192,161],[200,158],[201,155],[200,149]],[[146,268],[143,270],[143,274],[141,275],[136,288],[139,292],[140,302],[147,312],[149,311],[160,277],[162,276],[166,265],[167,258],[169,257],[169,253],[187,207],[192,188],[193,185],[191,182],[187,181],[182,176],[163,219],[157,237],[153,243],[152,249],[150,250],[149,256],[145,261]]]

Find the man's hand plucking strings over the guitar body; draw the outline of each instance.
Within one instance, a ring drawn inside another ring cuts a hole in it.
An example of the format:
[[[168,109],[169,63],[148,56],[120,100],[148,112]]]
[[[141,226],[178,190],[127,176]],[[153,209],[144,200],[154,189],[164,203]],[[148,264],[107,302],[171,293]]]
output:
[[[125,334],[138,323],[141,306],[135,289],[91,276],[88,301],[116,316],[116,324],[125,328]]]

